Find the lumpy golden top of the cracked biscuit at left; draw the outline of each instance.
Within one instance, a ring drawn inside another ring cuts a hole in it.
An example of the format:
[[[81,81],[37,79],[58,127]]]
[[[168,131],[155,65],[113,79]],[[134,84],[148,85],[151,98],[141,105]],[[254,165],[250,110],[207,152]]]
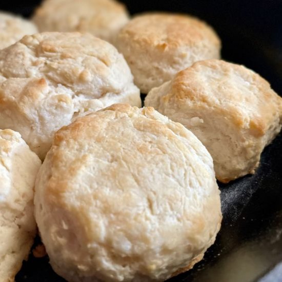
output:
[[[132,79],[123,56],[112,45],[78,32],[24,36],[0,52],[0,82],[31,77],[66,86],[84,97],[117,93]]]

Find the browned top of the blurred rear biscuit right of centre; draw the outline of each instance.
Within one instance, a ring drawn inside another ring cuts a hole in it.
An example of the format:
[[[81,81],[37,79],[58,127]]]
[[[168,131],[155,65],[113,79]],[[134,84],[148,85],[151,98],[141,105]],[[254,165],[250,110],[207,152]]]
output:
[[[213,42],[220,46],[214,30],[199,19],[182,14],[146,13],[132,19],[119,33],[139,44],[159,49],[193,46],[195,42]]]

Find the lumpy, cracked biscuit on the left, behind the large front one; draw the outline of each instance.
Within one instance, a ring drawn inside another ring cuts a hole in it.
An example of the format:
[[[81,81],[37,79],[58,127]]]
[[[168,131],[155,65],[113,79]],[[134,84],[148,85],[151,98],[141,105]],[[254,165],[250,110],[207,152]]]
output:
[[[91,34],[38,33],[0,51],[0,128],[41,159],[54,132],[114,103],[139,107],[139,89],[124,57]]]

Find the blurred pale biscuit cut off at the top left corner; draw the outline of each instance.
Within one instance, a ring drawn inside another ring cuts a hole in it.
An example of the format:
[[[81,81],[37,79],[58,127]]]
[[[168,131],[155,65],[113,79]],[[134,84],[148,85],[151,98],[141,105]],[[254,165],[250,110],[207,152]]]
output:
[[[0,12],[0,50],[16,43],[24,35],[36,32],[36,26],[27,19]]]

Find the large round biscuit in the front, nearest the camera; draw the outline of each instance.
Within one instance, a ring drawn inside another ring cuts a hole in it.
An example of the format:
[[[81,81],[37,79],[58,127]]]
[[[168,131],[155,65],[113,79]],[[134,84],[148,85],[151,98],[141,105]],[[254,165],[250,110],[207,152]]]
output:
[[[220,228],[212,158],[153,108],[113,105],[56,133],[35,217],[68,281],[163,281],[202,259]]]

